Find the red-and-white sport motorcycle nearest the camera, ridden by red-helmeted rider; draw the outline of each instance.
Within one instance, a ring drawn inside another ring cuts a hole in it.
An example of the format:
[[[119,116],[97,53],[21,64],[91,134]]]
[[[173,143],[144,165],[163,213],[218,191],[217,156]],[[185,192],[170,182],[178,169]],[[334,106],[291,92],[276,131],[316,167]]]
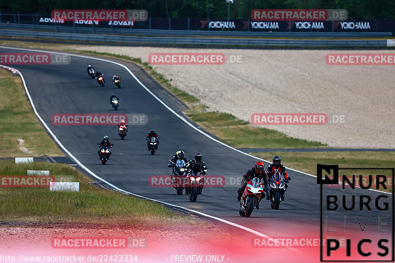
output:
[[[263,185],[259,178],[255,177],[247,183],[240,200],[240,216],[251,216],[252,210],[254,210],[256,205],[259,203],[262,193]]]

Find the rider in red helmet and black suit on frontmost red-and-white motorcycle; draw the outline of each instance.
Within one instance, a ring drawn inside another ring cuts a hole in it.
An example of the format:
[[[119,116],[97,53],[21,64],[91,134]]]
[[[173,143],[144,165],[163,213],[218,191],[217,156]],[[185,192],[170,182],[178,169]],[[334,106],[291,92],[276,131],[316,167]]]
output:
[[[260,180],[263,181],[264,184],[264,192],[261,194],[261,199],[258,200],[258,204],[256,205],[256,209],[259,209],[259,202],[265,197],[265,193],[268,191],[268,178],[265,173],[265,164],[261,161],[255,162],[255,166],[248,169],[248,171],[243,175],[240,182],[240,188],[237,189],[237,198],[236,200],[240,202],[241,195],[243,194],[248,181],[252,180],[253,178],[258,177]]]

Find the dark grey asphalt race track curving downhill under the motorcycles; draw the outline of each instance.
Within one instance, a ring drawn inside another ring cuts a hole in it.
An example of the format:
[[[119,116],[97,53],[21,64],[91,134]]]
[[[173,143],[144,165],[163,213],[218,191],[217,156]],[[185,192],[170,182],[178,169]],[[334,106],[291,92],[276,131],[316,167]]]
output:
[[[1,47],[0,51],[23,52],[6,47]],[[99,86],[86,74],[88,64],[104,73],[107,81],[105,87]],[[193,158],[195,152],[200,152],[208,167],[208,175],[237,177],[238,180],[257,159],[225,147],[190,127],[159,103],[124,68],[110,62],[76,56],[72,57],[69,65],[9,66],[21,71],[38,113],[60,142],[84,166],[118,188],[197,210],[269,236],[319,236],[319,186],[315,177],[303,173],[288,171],[292,181],[279,210],[272,210],[269,201],[263,200],[261,210],[254,210],[248,219],[238,215],[237,186],[204,188],[203,195],[197,198],[196,203],[190,202],[185,195],[177,195],[173,188],[150,187],[150,176],[170,175],[171,169],[166,165],[176,150],[184,150],[187,158]],[[176,112],[183,109],[182,104],[158,88],[158,84],[139,67],[131,63],[127,66]],[[112,75],[121,77],[121,89],[111,83]],[[117,112],[109,103],[112,93],[120,98]],[[55,113],[144,113],[148,116],[148,124],[129,126],[128,134],[122,141],[117,126],[53,125],[51,115]],[[151,128],[155,128],[160,137],[159,149],[155,155],[147,150],[145,141]],[[102,165],[98,158],[96,144],[104,135],[108,135],[114,144],[106,165]],[[286,166],[286,160],[283,160],[283,164]],[[267,165],[265,163],[265,168]],[[327,191],[339,193],[339,188]],[[374,191],[369,193],[372,197],[379,194]],[[391,213],[387,214],[390,223]],[[333,215],[333,219],[341,224],[344,215],[348,214],[339,211]],[[379,212],[371,211],[370,215],[377,217]],[[371,225],[372,233],[377,231],[376,228],[377,225]],[[245,234],[252,235],[247,232]]]

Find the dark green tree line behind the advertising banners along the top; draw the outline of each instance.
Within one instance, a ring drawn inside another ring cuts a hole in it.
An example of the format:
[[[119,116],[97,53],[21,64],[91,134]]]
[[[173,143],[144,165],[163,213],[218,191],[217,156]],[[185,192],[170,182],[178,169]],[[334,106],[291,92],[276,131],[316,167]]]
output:
[[[208,0],[209,17],[228,18],[225,0]],[[250,18],[252,9],[346,9],[352,19],[395,18],[395,0],[235,0],[231,19]],[[53,9],[146,9],[150,17],[206,18],[207,0],[0,0],[2,12],[50,13]]]

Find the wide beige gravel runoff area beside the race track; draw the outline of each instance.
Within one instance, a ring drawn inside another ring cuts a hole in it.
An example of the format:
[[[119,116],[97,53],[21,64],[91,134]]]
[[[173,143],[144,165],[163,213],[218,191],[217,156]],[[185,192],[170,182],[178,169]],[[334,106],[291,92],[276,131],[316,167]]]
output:
[[[393,53],[391,50],[67,47],[127,55],[143,62],[148,62],[150,53],[224,53],[223,65],[153,68],[210,111],[232,113],[246,121],[253,113],[326,113],[325,125],[260,126],[329,147],[395,149],[394,66],[329,66],[325,62],[328,53]],[[231,55],[240,56],[241,62],[231,63]],[[332,121],[341,115],[343,123]]]

